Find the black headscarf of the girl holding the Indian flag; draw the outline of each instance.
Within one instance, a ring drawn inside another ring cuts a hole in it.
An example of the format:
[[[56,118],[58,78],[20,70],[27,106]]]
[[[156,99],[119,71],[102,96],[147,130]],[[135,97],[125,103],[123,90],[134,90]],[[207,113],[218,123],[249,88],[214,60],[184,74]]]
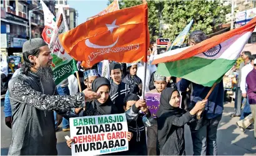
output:
[[[160,96],[160,106],[157,111],[157,129],[160,149],[162,149],[169,135],[174,131],[174,129],[171,129],[172,124],[168,123],[172,123],[175,117],[182,116],[184,112],[180,108],[170,106],[170,97],[174,91],[177,91],[177,89],[165,88]]]

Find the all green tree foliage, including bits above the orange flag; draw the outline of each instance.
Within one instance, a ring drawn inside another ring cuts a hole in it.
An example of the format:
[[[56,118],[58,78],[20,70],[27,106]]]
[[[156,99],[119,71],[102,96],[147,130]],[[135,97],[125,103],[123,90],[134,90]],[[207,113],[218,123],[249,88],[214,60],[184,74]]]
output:
[[[109,1],[109,4],[112,1]],[[147,1],[149,7],[150,40],[155,41],[161,33],[164,37],[174,40],[177,35],[194,19],[190,29],[202,30],[211,34],[214,27],[225,22],[225,15],[230,12],[230,6],[224,6],[220,0],[210,1]],[[119,1],[120,9],[142,4],[141,0]],[[161,23],[167,24],[166,30],[160,30]]]

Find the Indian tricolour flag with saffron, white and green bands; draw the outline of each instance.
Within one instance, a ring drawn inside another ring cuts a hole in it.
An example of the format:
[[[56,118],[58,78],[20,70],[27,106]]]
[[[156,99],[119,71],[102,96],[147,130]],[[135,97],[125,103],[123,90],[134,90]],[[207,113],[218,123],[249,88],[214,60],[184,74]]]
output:
[[[200,85],[213,86],[235,64],[255,25],[256,17],[242,27],[200,44],[155,55],[152,64],[159,63],[159,75],[177,76]]]

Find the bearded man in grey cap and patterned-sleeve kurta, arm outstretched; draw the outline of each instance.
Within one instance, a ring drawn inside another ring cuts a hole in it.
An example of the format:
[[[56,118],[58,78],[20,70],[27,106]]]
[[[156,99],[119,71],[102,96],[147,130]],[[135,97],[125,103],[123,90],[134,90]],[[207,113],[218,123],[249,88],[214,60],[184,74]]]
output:
[[[51,69],[52,56],[44,40],[22,47],[21,74],[9,81],[12,108],[12,142],[8,155],[57,155],[54,112],[84,107],[86,100],[100,98],[89,90],[57,95]]]

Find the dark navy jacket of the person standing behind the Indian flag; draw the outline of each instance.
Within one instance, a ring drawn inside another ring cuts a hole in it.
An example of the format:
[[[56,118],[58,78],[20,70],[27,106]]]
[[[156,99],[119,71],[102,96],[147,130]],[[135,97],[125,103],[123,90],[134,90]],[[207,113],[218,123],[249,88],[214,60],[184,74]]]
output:
[[[182,78],[177,83],[177,87],[179,91],[186,91],[189,87],[190,83],[192,83],[192,96],[190,101],[190,106],[194,107],[197,101],[202,101],[207,93],[210,91],[210,87],[205,87],[202,85],[198,85],[189,80],[185,80]],[[215,88],[214,91],[210,94],[208,98],[208,102],[205,105],[205,111],[207,112],[207,119],[212,119],[214,117],[222,115],[223,112],[223,103],[224,103],[224,87],[223,81],[220,81]]]

